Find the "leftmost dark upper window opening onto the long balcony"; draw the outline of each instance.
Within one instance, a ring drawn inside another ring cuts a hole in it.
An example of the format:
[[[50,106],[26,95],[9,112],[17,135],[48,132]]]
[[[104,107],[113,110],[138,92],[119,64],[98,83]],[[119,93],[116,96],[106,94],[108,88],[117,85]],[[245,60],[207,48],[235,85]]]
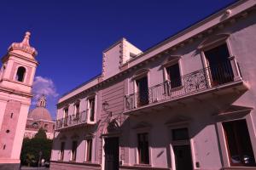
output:
[[[136,80],[137,85],[137,106],[148,105],[148,77]]]

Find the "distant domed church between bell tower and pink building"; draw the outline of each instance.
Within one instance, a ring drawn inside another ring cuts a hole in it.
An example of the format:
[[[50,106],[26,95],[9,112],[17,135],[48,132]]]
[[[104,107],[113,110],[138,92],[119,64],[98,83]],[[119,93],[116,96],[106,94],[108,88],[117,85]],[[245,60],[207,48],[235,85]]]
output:
[[[34,138],[40,128],[44,129],[48,139],[53,139],[55,122],[46,109],[46,97],[44,95],[38,99],[37,107],[28,113],[24,138]]]

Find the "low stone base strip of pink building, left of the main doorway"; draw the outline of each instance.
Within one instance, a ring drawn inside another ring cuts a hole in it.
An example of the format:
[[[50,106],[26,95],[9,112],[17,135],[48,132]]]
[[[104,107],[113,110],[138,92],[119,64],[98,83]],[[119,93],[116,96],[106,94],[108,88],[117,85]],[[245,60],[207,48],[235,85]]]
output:
[[[101,170],[100,164],[89,162],[73,162],[73,161],[50,161],[50,170]],[[0,168],[1,170],[1,168]]]

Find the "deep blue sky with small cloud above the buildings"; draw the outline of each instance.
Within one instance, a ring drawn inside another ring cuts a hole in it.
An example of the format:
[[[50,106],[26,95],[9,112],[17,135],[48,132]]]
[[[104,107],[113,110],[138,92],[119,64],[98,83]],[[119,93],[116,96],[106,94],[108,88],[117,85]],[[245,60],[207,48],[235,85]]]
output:
[[[36,94],[55,118],[61,94],[102,71],[102,51],[125,37],[142,50],[235,0],[1,0],[0,54],[31,31]],[[38,96],[38,95],[37,95]]]

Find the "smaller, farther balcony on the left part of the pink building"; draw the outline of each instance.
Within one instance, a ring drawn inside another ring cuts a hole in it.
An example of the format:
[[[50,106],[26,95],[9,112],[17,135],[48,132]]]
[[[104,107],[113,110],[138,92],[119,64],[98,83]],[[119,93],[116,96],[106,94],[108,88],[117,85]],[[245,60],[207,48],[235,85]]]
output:
[[[78,114],[66,116],[64,118],[56,120],[56,131],[67,129],[71,127],[79,127],[85,125],[96,124],[94,117],[90,116],[90,111],[82,111]]]

